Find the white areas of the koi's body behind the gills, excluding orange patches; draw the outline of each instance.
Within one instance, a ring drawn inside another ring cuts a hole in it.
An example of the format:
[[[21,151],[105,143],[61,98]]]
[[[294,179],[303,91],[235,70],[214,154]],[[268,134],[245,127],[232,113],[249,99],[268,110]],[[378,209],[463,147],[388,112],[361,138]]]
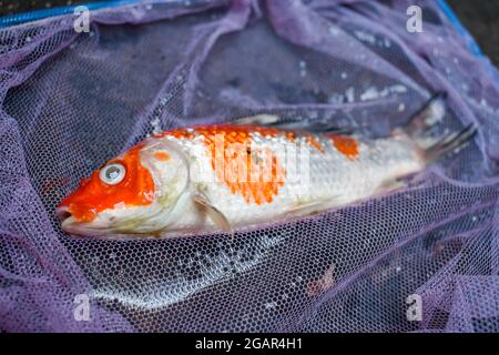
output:
[[[201,176],[190,181],[176,206],[179,217],[170,230],[216,229],[192,199],[198,190],[222,212],[231,226],[240,227],[347,205],[380,193],[390,181],[425,168],[418,148],[407,136],[374,141],[350,138],[357,144],[355,158],[340,152],[332,138],[314,136],[322,151],[310,146],[307,138],[301,136],[289,142],[284,133],[277,136],[256,133],[252,136],[253,150],[269,150],[285,172],[295,171],[282,179],[283,185],[272,201],[263,203],[247,201],[243,192],[234,193],[224,180],[217,179],[203,138],[194,141],[169,135],[161,138],[185,154],[192,175]],[[306,166],[301,166],[301,162]],[[262,189],[258,183],[253,184],[254,190],[258,187]]]

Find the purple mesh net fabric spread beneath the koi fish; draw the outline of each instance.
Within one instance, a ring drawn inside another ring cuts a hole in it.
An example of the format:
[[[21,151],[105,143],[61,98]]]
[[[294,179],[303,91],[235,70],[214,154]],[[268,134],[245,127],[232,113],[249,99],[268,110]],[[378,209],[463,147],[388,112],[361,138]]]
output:
[[[499,331],[499,89],[436,2],[156,1],[92,12],[90,33],[73,19],[0,32],[2,331]],[[385,197],[233,240],[75,240],[53,215],[157,130],[269,112],[380,135],[440,90],[435,133],[476,123],[476,141]]]

